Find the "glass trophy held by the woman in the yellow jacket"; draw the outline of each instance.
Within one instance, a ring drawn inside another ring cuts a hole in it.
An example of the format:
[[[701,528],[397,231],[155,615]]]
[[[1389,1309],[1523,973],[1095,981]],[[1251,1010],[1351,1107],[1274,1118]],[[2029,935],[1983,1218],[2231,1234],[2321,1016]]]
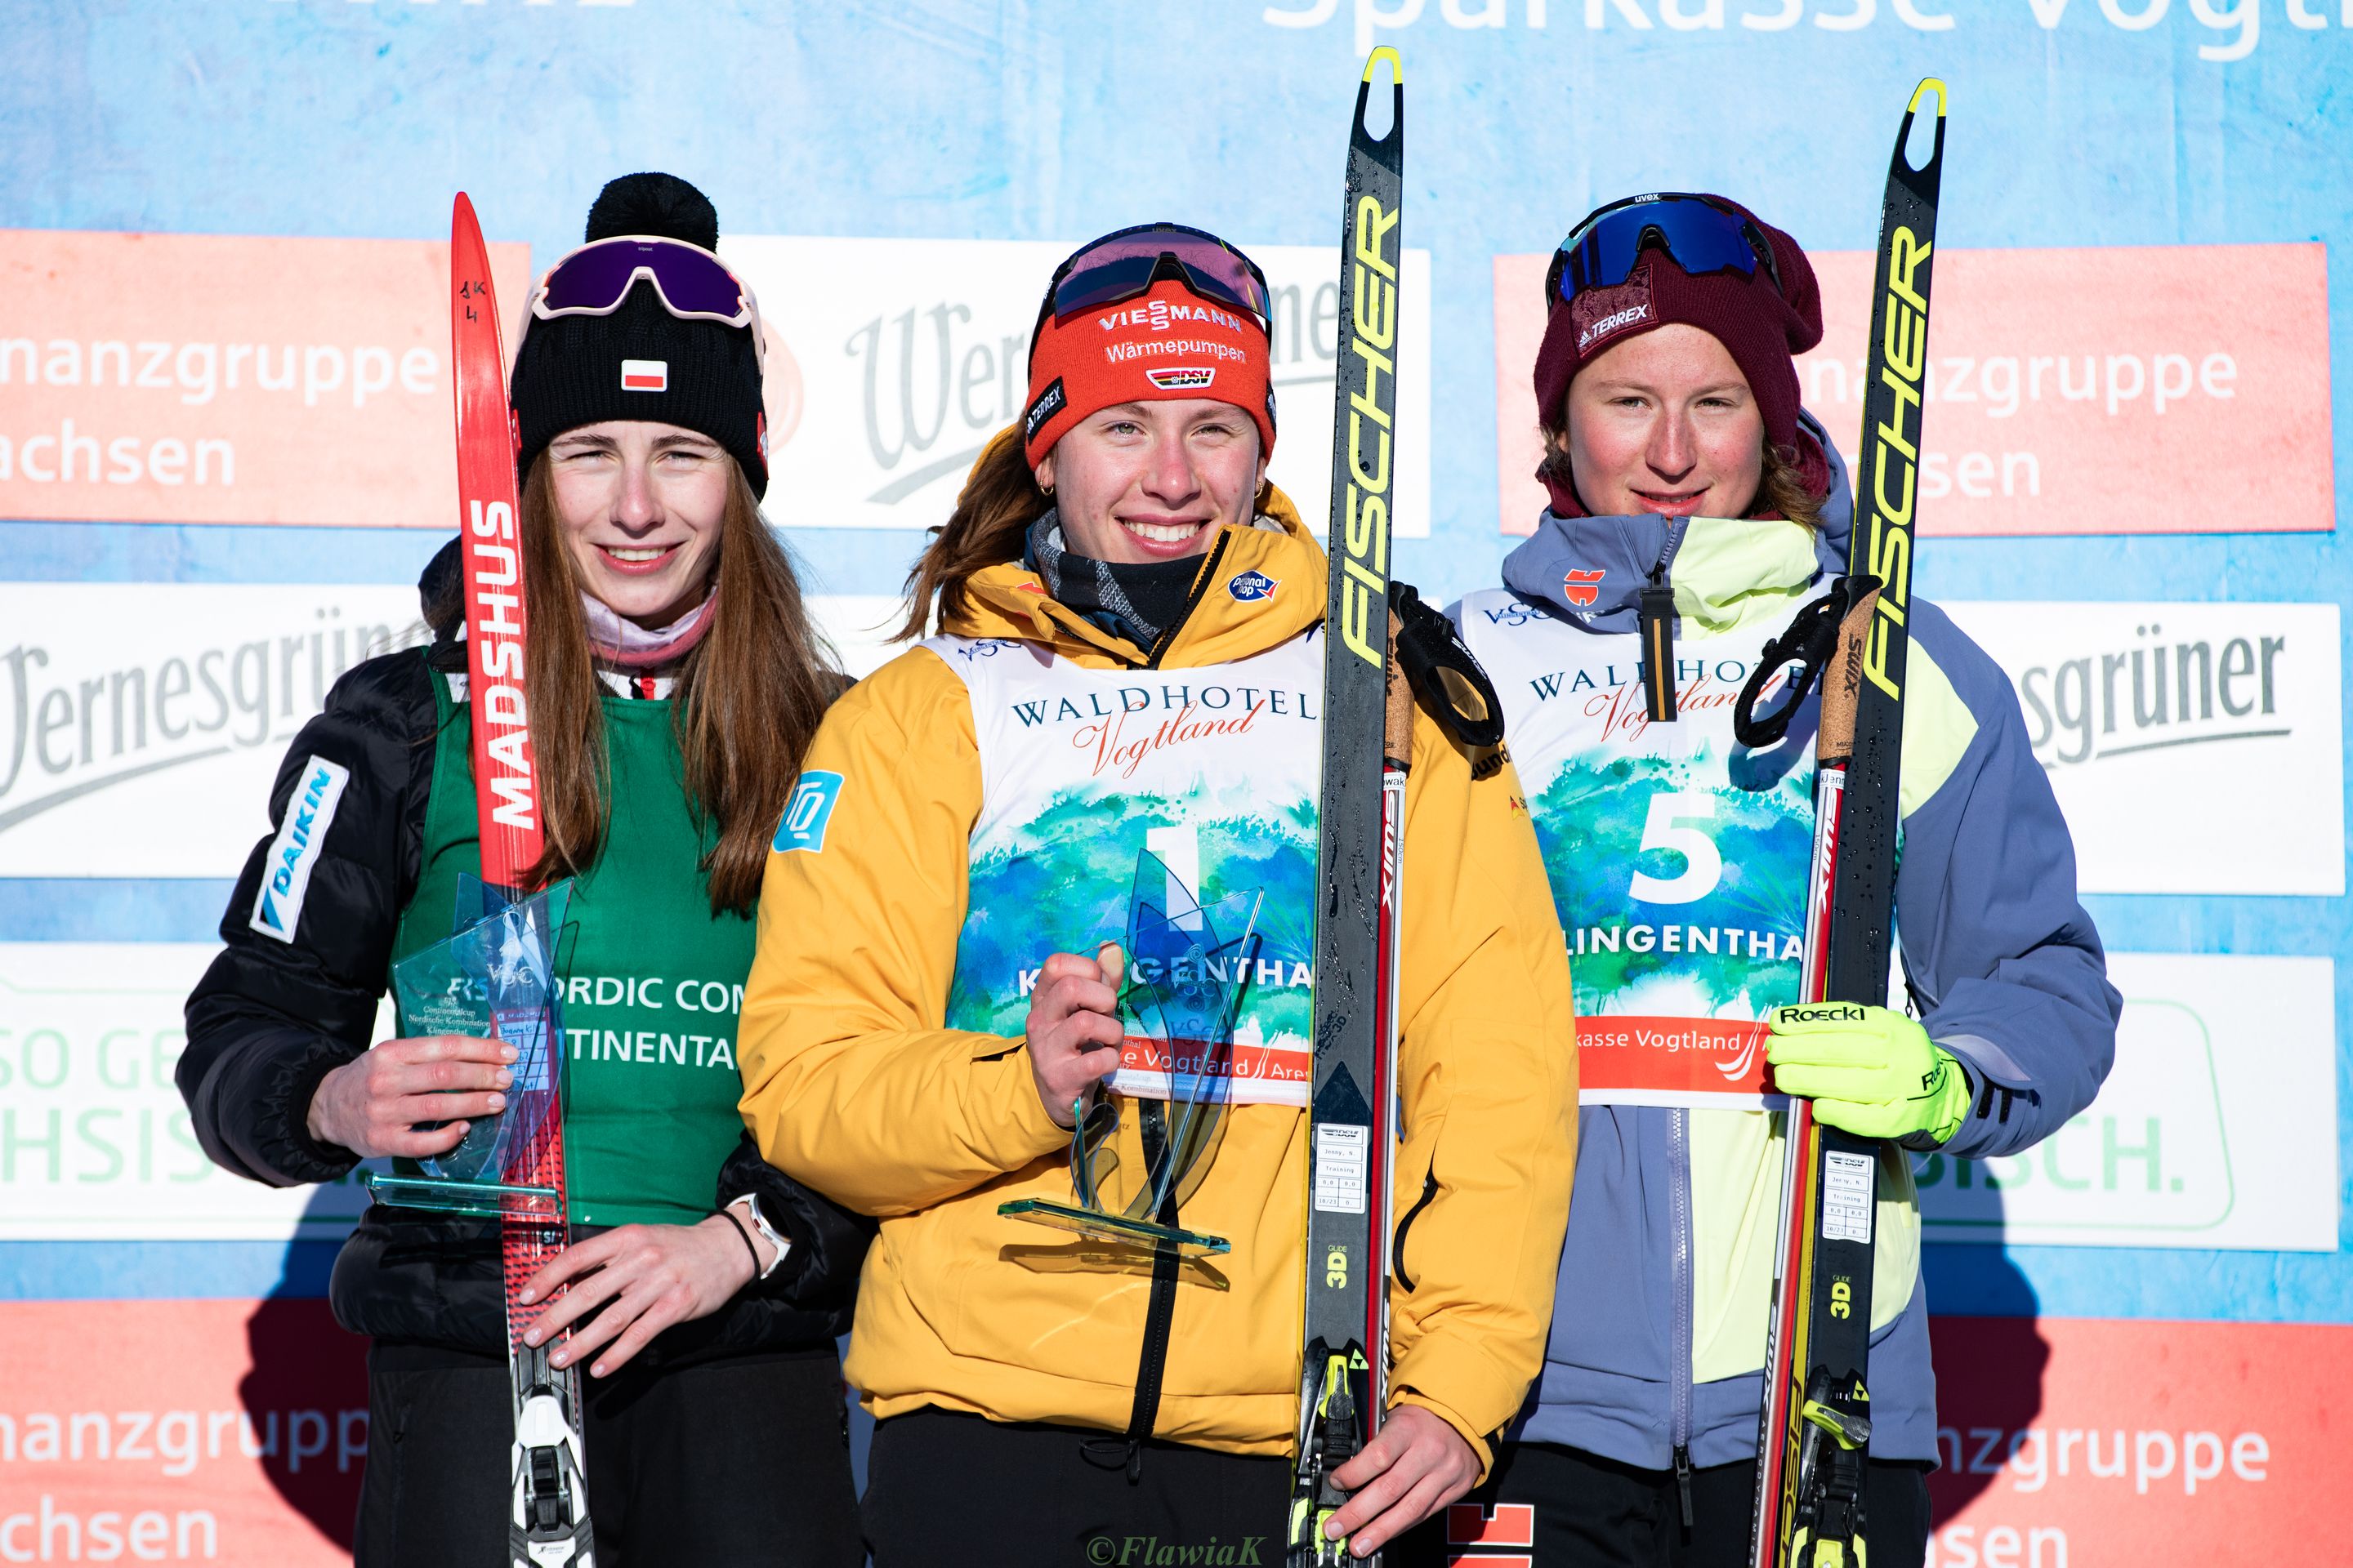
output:
[[[1224,1237],[1160,1215],[1193,1194],[1226,1131],[1233,1020],[1259,950],[1261,900],[1252,889],[1202,905],[1160,856],[1136,853],[1120,990],[1122,1074],[1129,1084],[1153,1079],[1158,1093],[1089,1091],[1073,1105],[1073,1201],[1016,1199],[1000,1204],[1000,1215],[1188,1258],[1228,1251]]]

